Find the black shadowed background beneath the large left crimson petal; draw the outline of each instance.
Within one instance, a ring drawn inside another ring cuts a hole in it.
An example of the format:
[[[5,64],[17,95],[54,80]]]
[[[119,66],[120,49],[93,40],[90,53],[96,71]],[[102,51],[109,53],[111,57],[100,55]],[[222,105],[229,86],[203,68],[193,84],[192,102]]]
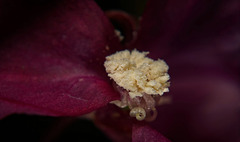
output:
[[[110,141],[95,125],[76,117],[14,114],[0,121],[1,142]]]

